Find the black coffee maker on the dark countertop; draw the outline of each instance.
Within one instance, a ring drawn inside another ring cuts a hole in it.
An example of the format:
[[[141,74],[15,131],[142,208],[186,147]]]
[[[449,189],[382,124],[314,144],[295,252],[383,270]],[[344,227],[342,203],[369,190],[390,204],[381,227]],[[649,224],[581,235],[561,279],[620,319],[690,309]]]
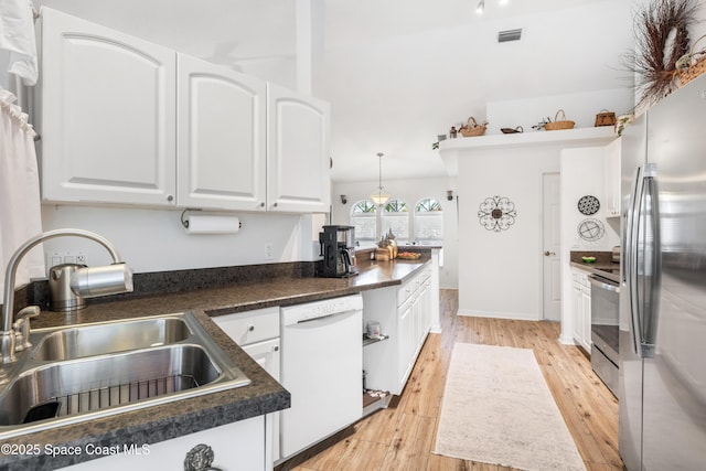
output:
[[[318,275],[325,278],[346,278],[357,275],[355,264],[355,227],[323,226],[319,233],[323,260]]]

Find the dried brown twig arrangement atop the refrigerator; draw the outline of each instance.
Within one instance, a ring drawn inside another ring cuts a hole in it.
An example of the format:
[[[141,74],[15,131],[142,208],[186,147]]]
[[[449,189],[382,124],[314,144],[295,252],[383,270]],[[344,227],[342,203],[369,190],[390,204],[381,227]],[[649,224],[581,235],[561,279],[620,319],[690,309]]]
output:
[[[635,108],[653,105],[676,88],[676,62],[688,52],[688,26],[697,6],[696,0],[652,0],[635,13],[635,50],[622,57],[635,75]]]

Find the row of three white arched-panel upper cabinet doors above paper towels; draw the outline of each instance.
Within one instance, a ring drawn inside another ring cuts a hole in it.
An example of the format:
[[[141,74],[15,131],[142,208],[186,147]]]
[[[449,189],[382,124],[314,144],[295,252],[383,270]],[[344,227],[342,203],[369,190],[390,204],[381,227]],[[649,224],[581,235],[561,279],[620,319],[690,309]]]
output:
[[[42,197],[330,211],[329,104],[47,8]]]

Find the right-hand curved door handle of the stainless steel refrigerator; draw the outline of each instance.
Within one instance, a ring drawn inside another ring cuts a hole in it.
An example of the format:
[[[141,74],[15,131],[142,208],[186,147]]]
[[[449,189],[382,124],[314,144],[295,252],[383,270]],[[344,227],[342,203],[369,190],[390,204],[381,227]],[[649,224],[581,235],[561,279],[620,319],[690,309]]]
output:
[[[654,346],[657,333],[657,320],[660,312],[659,292],[662,286],[662,249],[660,244],[660,202],[659,189],[655,180],[656,168],[654,163],[648,163],[644,170],[643,201],[645,214],[645,234],[643,243],[644,257],[644,298],[642,300],[642,356],[654,356]]]

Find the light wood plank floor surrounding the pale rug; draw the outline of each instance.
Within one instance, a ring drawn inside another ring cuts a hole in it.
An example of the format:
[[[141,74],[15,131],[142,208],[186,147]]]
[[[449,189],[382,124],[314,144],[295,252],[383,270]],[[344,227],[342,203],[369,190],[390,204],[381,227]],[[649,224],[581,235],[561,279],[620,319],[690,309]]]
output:
[[[395,407],[360,420],[338,442],[304,452],[278,471],[512,470],[431,452],[454,342],[533,349],[586,468],[622,470],[618,402],[581,351],[558,342],[558,323],[457,317],[457,311],[458,291],[441,290],[442,333],[427,338]]]

